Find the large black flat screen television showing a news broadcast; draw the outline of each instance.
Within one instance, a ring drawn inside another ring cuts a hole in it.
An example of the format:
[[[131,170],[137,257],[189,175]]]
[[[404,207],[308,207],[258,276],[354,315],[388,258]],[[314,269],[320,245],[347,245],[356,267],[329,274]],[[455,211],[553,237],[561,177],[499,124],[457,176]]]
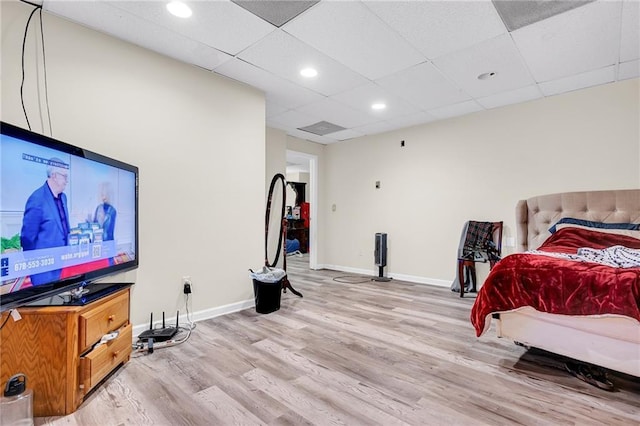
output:
[[[0,130],[0,311],[83,304],[117,288],[96,280],[138,267],[138,168]]]

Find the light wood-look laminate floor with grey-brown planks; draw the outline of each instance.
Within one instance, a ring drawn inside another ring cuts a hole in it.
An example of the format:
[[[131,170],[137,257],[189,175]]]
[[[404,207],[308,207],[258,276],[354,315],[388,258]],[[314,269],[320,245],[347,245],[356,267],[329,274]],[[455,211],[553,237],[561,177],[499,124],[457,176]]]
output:
[[[36,425],[640,424],[638,379],[613,375],[607,392],[493,326],[476,339],[472,296],[340,283],[347,274],[306,261],[288,259],[304,298],[201,321],[186,343],[132,359],[76,413]]]

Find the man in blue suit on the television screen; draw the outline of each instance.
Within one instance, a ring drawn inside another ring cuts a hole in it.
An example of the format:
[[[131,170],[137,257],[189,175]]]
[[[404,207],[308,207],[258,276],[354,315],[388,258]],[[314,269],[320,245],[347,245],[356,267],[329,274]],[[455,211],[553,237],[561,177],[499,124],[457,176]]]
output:
[[[47,181],[27,200],[22,219],[22,250],[66,246],[69,237],[69,210],[63,192],[69,181],[69,166],[59,158],[47,165]],[[33,285],[60,279],[60,269],[31,275]]]

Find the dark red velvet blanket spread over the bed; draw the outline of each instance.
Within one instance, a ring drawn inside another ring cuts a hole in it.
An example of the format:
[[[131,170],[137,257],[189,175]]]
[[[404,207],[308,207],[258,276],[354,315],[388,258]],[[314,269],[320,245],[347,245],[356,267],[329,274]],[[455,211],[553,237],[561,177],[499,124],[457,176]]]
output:
[[[640,240],[563,228],[538,250],[576,253],[581,247],[603,249],[614,245],[640,249]],[[489,273],[471,309],[476,335],[485,331],[491,313],[524,306],[553,314],[618,314],[640,321],[640,268],[613,268],[539,254],[506,256]]]

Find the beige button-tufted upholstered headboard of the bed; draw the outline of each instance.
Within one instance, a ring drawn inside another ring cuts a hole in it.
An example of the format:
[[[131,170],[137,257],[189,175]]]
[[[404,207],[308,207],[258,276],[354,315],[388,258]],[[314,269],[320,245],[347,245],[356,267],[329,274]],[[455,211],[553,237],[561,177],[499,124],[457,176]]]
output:
[[[536,249],[563,217],[596,222],[640,223],[640,189],[564,192],[520,200],[516,205],[516,251]]]

